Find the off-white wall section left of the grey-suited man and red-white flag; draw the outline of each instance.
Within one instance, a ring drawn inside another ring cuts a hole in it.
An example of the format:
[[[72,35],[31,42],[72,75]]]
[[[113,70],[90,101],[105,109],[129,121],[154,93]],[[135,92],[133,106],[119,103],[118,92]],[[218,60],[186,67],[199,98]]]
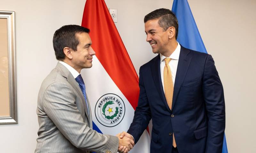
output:
[[[32,153],[36,148],[37,95],[55,67],[52,37],[62,25],[78,24],[84,0],[6,0],[0,10],[15,11],[18,124],[0,125],[1,153]]]

